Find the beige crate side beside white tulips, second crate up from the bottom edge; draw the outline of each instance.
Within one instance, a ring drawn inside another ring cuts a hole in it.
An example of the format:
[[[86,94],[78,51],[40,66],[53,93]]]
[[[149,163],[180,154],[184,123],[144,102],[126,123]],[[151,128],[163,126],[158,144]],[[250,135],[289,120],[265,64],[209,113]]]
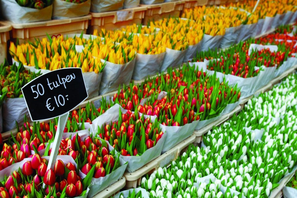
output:
[[[124,173],[126,178],[126,187],[125,188],[136,188],[140,185],[140,181],[142,176],[145,174],[151,174],[154,170],[157,170],[159,167],[165,167],[170,165],[170,163],[181,154],[190,144],[195,141],[195,135],[188,137],[187,139],[181,141],[181,143],[177,144],[172,149],[163,153],[153,161],[147,163],[142,168],[136,170],[133,173]]]

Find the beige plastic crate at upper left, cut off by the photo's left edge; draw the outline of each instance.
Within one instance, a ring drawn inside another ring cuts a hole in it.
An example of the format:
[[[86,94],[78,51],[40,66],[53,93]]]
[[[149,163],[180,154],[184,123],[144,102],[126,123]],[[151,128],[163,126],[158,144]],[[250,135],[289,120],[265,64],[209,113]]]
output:
[[[11,29],[11,25],[0,21],[0,64],[7,59],[7,41]]]

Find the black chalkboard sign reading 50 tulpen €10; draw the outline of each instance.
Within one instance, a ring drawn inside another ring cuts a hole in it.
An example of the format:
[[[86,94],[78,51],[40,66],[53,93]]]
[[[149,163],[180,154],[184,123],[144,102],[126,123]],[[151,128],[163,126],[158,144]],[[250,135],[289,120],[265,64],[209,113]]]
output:
[[[45,73],[22,88],[32,121],[63,115],[87,97],[81,68],[63,68]]]

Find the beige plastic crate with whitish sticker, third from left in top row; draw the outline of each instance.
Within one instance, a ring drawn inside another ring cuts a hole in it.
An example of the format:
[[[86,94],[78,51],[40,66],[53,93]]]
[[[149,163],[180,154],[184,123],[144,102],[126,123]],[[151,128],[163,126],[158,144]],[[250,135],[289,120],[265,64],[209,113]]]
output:
[[[133,23],[141,24],[145,11],[146,7],[135,7],[111,12],[91,12],[92,19],[88,32],[93,33],[95,29],[102,28],[116,30]]]

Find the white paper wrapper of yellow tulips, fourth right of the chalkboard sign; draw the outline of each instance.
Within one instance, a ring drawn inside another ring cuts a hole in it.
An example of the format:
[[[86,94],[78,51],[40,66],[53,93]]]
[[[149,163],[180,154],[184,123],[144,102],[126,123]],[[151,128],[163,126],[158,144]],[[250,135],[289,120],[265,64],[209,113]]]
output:
[[[168,67],[174,68],[181,65],[186,52],[187,52],[187,49],[180,51],[180,50],[166,48],[166,54],[165,54],[160,72],[166,71]]]

